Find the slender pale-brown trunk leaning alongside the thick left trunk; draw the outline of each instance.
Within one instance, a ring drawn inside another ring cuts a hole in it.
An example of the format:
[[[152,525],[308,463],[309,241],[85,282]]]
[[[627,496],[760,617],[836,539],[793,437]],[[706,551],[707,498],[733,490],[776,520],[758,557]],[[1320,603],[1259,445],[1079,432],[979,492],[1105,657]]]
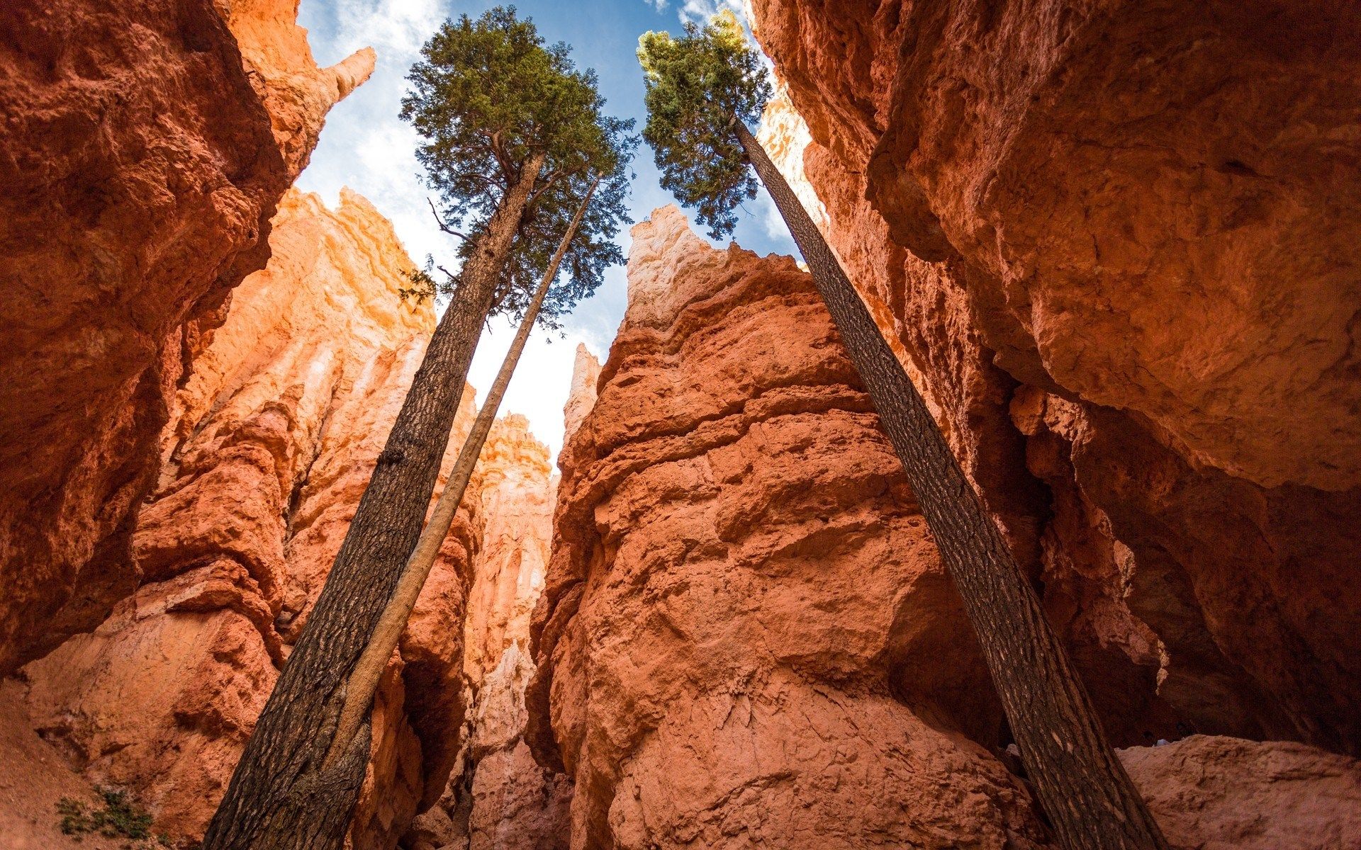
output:
[[[543,306],[543,299],[548,295],[548,287],[553,286],[553,279],[558,275],[558,265],[562,264],[562,257],[568,253],[572,237],[576,235],[577,227],[581,224],[581,216],[585,215],[587,205],[591,204],[591,197],[595,194],[596,184],[599,182],[599,178],[596,178],[591,184],[591,189],[577,207],[568,231],[558,243],[558,250],[554,252],[553,258],[548,261],[548,268],[539,282],[539,288],[535,290],[534,298],[529,299],[524,318],[520,321],[520,328],[516,330],[514,339],[510,341],[510,348],[501,362],[501,371],[497,373],[495,381],[491,382],[491,389],[487,392],[486,401],[482,403],[482,409],[478,411],[472,430],[468,431],[467,439],[463,441],[463,449],[459,450],[459,460],[455,462],[453,471],[449,473],[449,480],[445,483],[444,491],[434,505],[430,521],[426,522],[425,529],[421,532],[421,540],[416,541],[415,551],[407,559],[407,566],[401,571],[401,579],[397,582],[397,590],[382,609],[378,626],[373,630],[369,645],[363,647],[363,654],[359,656],[359,661],[350,675],[350,681],[346,685],[344,707],[340,710],[340,722],[336,725],[336,734],[331,743],[331,752],[327,753],[325,767],[329,767],[342,753],[348,752],[355,733],[361,732],[361,724],[369,713],[369,703],[378,688],[378,677],[388,665],[392,650],[397,647],[397,639],[407,627],[411,609],[415,608],[421,589],[430,577],[430,568],[434,566],[436,556],[440,555],[440,547],[444,544],[444,539],[449,533],[449,525],[453,522],[453,517],[459,511],[459,505],[463,502],[463,494],[472,479],[472,469],[476,466],[478,457],[482,454],[482,446],[491,431],[497,409],[501,407],[501,400],[505,398],[506,388],[510,386],[510,377],[520,362],[520,355],[524,354],[524,345],[529,340],[529,332],[534,330],[534,322],[539,318],[539,309]]]

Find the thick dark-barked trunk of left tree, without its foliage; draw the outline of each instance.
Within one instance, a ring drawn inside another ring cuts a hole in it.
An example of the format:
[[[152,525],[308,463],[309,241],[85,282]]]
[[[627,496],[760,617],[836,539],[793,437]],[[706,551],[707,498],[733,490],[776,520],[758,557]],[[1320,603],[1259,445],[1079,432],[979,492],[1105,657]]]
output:
[[[369,756],[369,736],[352,736],[343,758],[323,768],[346,680],[421,533],[468,364],[543,163],[544,156],[535,154],[524,165],[463,265],[344,544],[208,824],[203,850],[323,850],[344,840]]]

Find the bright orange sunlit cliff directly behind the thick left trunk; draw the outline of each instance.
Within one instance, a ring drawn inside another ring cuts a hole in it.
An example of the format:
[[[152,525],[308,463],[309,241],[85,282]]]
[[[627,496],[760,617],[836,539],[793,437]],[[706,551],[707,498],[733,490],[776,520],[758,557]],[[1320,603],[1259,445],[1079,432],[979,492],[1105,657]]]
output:
[[[348,190],[335,211],[290,192],[271,248],[173,398],[132,534],[143,585],[22,669],[38,732],[188,842],[301,634],[434,326],[431,305],[399,295],[412,264],[392,226]],[[395,846],[453,764],[478,503],[460,510],[384,677],[355,847]]]

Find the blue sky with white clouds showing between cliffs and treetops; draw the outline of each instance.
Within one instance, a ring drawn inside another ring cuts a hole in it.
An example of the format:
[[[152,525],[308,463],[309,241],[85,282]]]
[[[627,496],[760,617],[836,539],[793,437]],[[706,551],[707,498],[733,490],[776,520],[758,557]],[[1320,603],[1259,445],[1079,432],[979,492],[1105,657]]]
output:
[[[607,109],[619,117],[644,122],[642,78],[634,57],[638,35],[646,30],[680,31],[686,18],[700,19],[719,3],[732,0],[525,0],[516,3],[521,16],[535,20],[550,41],[572,45],[578,65],[595,68]],[[339,103],[327,120],[312,163],[298,180],[299,188],[317,192],[335,205],[340,186],[367,197],[389,219],[416,262],[434,254],[448,260],[455,245],[441,234],[426,208],[429,189],[415,160],[418,137],[397,118],[406,91],[407,68],[418,58],[421,45],[445,18],[464,12],[476,16],[495,3],[470,0],[302,0],[298,23],[310,31],[317,63],[329,65],[351,52],[373,46],[378,53],[373,78]],[[633,219],[642,220],[653,208],[672,203],[657,185],[652,151],[641,146],[636,160],[638,177],[633,185]],[[747,205],[735,239],[758,253],[793,253],[769,199]],[[627,252],[627,231],[621,234]],[[562,443],[562,405],[566,403],[577,343],[602,360],[623,318],[623,268],[614,268],[596,294],[583,302],[565,324],[565,339],[536,329],[510,382],[501,412],[529,418],[539,439],[557,454]],[[468,381],[483,390],[510,341],[513,328],[493,322],[478,345]],[[551,341],[550,341],[551,340]],[[479,393],[480,401],[480,393]]]

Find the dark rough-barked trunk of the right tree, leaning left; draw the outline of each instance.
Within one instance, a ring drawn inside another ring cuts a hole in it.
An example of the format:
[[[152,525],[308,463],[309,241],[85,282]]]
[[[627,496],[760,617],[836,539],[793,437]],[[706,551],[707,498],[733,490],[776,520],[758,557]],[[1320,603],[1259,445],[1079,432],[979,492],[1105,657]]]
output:
[[[1086,688],[1034,589],[921,396],[784,175],[746,125],[735,121],[734,131],[799,243],[902,461],[1059,840],[1068,850],[1166,850],[1143,798],[1106,744]]]

